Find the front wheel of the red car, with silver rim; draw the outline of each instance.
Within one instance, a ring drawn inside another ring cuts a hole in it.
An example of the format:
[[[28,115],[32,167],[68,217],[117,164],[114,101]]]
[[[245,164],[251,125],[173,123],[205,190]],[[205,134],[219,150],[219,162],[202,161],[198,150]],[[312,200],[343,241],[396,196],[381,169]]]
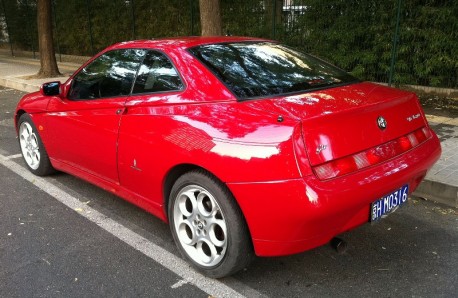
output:
[[[18,140],[21,149],[22,157],[30,172],[37,176],[46,176],[55,172],[54,168],[49,161],[48,153],[41,141],[40,134],[38,133],[35,124],[29,114],[22,114],[18,121]],[[27,129],[30,138],[24,138],[21,134],[22,129]],[[34,148],[27,147],[27,144],[33,144]],[[30,150],[29,150],[30,149]],[[31,158],[33,151],[38,158]],[[38,155],[36,155],[37,153]]]

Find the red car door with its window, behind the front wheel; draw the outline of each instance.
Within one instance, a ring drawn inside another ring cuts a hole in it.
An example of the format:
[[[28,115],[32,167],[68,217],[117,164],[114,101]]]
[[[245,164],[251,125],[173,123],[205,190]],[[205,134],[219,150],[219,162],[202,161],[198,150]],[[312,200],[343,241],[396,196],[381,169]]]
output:
[[[50,101],[50,156],[69,171],[119,181],[119,121],[144,53],[121,49],[102,54],[73,77],[66,96]]]

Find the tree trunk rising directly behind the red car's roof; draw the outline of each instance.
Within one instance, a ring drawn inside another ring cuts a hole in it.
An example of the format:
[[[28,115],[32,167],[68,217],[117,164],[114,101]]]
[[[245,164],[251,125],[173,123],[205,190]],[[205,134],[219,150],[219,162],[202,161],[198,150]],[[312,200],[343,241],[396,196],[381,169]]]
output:
[[[202,36],[222,35],[220,0],[199,0]]]

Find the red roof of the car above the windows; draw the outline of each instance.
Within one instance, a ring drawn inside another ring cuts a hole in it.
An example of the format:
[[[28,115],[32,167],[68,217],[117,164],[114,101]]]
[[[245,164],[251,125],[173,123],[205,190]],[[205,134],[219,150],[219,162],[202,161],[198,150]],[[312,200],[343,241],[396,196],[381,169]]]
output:
[[[267,39],[256,37],[241,36],[190,36],[161,39],[132,40],[116,43],[106,50],[126,49],[126,48],[192,48],[204,44],[245,42],[245,41],[269,41]]]

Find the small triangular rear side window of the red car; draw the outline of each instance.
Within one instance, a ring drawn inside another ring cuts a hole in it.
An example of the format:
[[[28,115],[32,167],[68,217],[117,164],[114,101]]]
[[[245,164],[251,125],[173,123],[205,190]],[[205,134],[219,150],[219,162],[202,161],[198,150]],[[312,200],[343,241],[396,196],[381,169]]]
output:
[[[172,62],[162,53],[149,51],[138,72],[132,93],[178,91],[183,83]]]

